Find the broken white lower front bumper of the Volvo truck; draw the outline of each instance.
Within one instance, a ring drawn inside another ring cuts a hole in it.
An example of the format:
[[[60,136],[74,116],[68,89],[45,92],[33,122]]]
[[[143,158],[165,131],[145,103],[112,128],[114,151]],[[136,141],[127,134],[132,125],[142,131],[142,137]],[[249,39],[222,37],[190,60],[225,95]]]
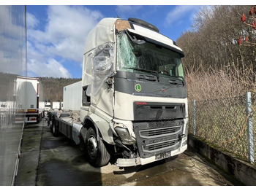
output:
[[[187,149],[187,144],[185,144],[183,147],[180,147],[176,150],[173,151],[169,151],[169,152],[164,152],[162,154],[159,155],[155,155],[152,157],[147,157],[147,158],[118,158],[116,160],[116,165],[118,167],[129,167],[129,166],[136,166],[136,165],[146,165],[148,163],[153,163],[157,160],[162,160],[168,157],[173,157],[175,155],[179,155],[182,152],[184,152]]]

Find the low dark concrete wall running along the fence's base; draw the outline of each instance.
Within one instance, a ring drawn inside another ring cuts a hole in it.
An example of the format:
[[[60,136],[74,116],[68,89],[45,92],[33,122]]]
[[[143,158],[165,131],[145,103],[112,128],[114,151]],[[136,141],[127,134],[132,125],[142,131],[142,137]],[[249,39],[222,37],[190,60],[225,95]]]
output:
[[[220,151],[220,149],[211,147],[195,136],[189,135],[188,141],[189,147],[192,147],[200,155],[214,162],[215,165],[222,168],[228,174],[233,175],[240,182],[248,186],[256,185],[256,165],[239,160],[229,152]]]

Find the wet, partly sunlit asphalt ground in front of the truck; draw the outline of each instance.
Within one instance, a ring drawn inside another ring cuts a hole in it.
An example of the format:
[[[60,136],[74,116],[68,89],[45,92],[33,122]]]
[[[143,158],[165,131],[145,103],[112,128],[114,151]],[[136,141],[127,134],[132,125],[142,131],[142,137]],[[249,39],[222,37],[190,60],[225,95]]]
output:
[[[241,185],[208,160],[187,150],[148,165],[94,168],[73,141],[53,137],[47,122],[26,125],[15,185],[39,186],[225,186]]]

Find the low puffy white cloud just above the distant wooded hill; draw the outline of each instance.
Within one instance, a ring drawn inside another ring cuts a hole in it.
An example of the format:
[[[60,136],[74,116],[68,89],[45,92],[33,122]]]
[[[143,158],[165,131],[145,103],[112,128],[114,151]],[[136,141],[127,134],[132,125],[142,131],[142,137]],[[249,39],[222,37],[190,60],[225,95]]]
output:
[[[53,58],[50,58],[47,63],[39,63],[30,59],[28,68],[29,74],[36,74],[38,77],[72,77],[69,71]]]

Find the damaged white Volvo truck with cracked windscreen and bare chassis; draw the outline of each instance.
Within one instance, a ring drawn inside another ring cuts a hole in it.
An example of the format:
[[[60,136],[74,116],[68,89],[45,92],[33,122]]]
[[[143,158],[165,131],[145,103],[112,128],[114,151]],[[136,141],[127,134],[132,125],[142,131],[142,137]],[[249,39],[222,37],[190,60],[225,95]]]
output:
[[[50,112],[53,136],[80,144],[98,167],[113,156],[127,167],[181,154],[188,124],[183,57],[150,23],[102,19],[86,41],[80,111]]]

